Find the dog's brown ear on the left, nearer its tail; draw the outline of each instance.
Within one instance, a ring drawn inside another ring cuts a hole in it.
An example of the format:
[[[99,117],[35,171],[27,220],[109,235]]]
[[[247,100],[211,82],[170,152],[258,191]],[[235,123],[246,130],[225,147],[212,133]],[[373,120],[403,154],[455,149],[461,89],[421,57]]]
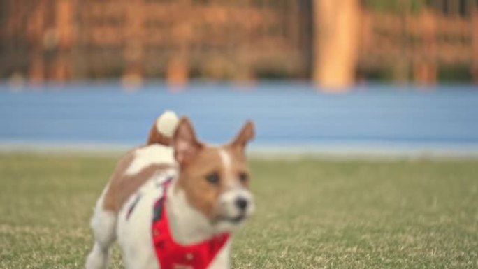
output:
[[[189,163],[203,145],[196,138],[191,121],[182,117],[173,136],[174,157],[180,165]]]

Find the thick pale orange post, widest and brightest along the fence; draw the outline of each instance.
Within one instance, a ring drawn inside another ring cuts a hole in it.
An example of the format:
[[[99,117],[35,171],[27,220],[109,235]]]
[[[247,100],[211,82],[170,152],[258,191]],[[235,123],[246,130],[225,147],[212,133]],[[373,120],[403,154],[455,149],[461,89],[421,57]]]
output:
[[[359,45],[357,0],[314,0],[313,80],[328,91],[352,85]]]

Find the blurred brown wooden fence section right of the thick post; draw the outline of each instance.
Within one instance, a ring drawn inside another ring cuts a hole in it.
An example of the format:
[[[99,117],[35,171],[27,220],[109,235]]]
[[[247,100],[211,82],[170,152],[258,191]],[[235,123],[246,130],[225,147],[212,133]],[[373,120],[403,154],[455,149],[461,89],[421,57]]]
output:
[[[478,10],[447,15],[374,13],[363,10],[361,68],[393,70],[395,80],[434,83],[439,66],[468,66],[478,82]]]

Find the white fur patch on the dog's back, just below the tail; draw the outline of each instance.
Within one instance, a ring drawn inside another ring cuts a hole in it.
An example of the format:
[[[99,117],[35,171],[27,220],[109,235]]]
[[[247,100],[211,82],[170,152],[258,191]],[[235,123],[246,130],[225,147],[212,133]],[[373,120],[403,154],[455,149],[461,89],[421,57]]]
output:
[[[161,163],[175,163],[171,147],[159,144],[141,147],[134,152],[134,159],[131,161],[128,169],[126,169],[126,175],[136,175],[147,166]]]

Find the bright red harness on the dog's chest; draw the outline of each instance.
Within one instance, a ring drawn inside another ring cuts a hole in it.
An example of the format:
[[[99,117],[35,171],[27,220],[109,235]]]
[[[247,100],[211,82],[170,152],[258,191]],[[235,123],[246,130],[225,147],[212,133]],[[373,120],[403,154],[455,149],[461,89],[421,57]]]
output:
[[[180,245],[171,235],[166,214],[166,189],[171,180],[163,184],[163,196],[154,204],[152,222],[152,241],[154,252],[161,265],[161,269],[205,269],[209,266],[217,253],[229,240],[229,233],[216,235],[194,245]]]

